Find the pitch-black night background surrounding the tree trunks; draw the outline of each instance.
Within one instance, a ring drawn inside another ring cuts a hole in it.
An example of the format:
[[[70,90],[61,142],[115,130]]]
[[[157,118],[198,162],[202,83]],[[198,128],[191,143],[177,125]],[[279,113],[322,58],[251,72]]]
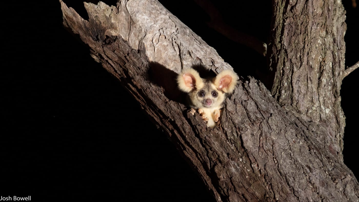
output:
[[[191,0],[160,2],[242,77],[255,76],[252,67],[265,71],[264,57],[209,29],[208,16]],[[269,1],[221,2],[218,9],[229,24],[267,41]],[[88,18],[82,1],[65,3]],[[358,9],[350,7],[350,0],[343,3],[346,66],[351,66],[359,56]],[[62,27],[58,1],[6,2],[1,16],[0,196],[31,195],[32,201],[214,201],[136,101]],[[344,161],[356,177],[358,78],[357,69],[341,87]]]

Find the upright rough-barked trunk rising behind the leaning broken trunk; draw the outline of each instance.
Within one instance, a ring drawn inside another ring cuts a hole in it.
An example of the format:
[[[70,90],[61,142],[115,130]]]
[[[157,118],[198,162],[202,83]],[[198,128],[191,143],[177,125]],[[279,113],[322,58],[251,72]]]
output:
[[[271,93],[299,119],[326,128],[317,139],[342,160],[344,7],[336,0],[273,2],[270,66],[275,79]]]

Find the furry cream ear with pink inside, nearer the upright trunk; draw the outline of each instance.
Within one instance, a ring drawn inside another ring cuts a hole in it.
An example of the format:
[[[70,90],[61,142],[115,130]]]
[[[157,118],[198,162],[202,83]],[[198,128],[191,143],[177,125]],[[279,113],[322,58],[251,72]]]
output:
[[[237,85],[238,76],[230,69],[225,69],[214,79],[213,84],[218,90],[225,93],[232,93]]]

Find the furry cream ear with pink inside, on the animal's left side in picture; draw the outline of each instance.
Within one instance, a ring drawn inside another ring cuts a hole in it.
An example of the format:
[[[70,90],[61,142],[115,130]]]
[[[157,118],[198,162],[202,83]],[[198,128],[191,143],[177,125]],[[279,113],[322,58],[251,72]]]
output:
[[[178,88],[184,92],[191,92],[194,89],[204,87],[204,82],[200,74],[192,69],[184,69],[177,77]]]

